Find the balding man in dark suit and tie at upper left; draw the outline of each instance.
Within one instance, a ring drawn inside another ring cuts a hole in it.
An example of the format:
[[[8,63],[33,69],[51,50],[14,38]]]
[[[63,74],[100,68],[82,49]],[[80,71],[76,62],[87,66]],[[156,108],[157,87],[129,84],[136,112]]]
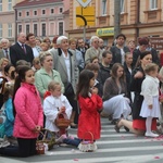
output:
[[[10,47],[10,55],[11,55],[11,63],[16,65],[18,60],[25,60],[33,63],[34,54],[33,49],[25,45],[26,35],[24,33],[20,33],[17,36],[17,42],[14,46]]]

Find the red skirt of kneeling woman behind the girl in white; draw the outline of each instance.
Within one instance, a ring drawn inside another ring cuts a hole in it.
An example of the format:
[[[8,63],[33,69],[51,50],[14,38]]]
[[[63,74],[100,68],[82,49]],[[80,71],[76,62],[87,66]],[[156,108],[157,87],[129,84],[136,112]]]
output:
[[[133,128],[146,130],[146,120],[134,120]],[[152,120],[152,130],[156,130],[156,118]]]

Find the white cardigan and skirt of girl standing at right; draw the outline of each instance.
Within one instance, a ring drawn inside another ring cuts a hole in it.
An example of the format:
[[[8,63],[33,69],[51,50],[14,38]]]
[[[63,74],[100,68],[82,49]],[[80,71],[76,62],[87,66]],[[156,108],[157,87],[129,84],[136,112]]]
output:
[[[143,101],[140,116],[160,117],[159,79],[147,75],[141,85],[141,95],[143,96]],[[152,104],[152,109],[149,109],[150,104]]]

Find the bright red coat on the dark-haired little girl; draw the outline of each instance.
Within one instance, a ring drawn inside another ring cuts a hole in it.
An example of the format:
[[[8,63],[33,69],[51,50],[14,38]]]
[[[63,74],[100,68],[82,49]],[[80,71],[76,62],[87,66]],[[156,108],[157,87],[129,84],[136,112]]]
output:
[[[91,140],[92,137],[88,131],[93,135],[93,140],[100,138],[101,122],[98,111],[102,109],[102,99],[98,95],[91,95],[90,98],[78,97],[80,114],[78,118],[77,136],[80,139]]]

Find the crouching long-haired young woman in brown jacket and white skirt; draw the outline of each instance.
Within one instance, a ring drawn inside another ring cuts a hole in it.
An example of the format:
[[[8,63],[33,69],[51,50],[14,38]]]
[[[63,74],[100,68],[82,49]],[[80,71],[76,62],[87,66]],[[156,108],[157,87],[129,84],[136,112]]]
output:
[[[105,80],[103,87],[103,113],[112,115],[112,124],[115,124],[120,117],[127,118],[130,114],[130,101],[126,96],[124,67],[121,63],[115,63],[112,75]]]

